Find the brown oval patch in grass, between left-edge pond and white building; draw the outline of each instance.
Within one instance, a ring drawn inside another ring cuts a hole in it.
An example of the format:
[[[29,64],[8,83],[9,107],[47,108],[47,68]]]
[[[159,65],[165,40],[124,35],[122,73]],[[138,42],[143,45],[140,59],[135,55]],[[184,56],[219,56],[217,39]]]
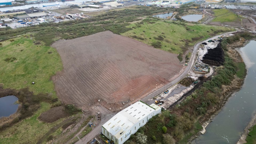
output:
[[[65,118],[69,114],[65,111],[64,106],[53,107],[50,110],[42,113],[38,119],[43,122],[55,122],[60,118]]]

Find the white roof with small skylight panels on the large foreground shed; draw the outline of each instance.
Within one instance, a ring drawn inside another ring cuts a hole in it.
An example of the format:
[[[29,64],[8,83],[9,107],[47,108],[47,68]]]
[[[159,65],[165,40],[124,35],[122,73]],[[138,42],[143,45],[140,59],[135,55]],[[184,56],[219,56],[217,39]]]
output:
[[[155,106],[158,107],[157,105]],[[107,121],[103,127],[109,133],[119,139],[123,134],[130,130],[135,123],[147,117],[154,110],[155,109],[153,109],[151,106],[138,101],[117,113],[114,117],[109,119],[109,121]]]

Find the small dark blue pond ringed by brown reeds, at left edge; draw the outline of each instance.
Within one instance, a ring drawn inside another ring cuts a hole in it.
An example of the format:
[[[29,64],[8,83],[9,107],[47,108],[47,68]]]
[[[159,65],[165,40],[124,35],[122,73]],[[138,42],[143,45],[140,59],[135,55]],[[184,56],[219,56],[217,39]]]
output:
[[[14,104],[17,100],[18,98],[14,95],[0,98],[0,118],[9,117],[17,111],[19,104]]]

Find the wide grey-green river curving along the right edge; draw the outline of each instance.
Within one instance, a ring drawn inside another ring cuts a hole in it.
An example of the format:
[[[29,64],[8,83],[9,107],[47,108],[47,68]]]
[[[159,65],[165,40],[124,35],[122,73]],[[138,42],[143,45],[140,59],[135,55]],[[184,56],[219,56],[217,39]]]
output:
[[[234,93],[226,105],[206,127],[206,133],[192,143],[237,143],[243,130],[256,112],[256,41],[241,48],[248,68],[243,87]],[[249,65],[248,65],[249,64]]]

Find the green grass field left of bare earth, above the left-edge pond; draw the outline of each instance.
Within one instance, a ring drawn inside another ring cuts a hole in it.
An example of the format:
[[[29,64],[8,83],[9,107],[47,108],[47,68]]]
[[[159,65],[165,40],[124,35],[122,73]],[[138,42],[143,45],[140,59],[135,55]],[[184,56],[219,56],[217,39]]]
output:
[[[34,94],[52,93],[56,97],[50,77],[62,69],[57,51],[49,46],[34,45],[30,38],[18,37],[14,40],[4,41],[3,47],[0,47],[0,83],[4,84],[4,88],[29,87]],[[17,60],[4,61],[11,57]],[[35,84],[32,85],[32,82]]]

